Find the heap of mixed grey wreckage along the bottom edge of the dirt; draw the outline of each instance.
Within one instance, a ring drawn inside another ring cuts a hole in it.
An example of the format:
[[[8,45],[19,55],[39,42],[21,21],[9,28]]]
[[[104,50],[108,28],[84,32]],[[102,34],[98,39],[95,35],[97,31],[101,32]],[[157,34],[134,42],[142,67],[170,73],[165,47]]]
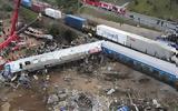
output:
[[[111,99],[62,89],[48,97],[50,111],[167,111],[156,99]]]

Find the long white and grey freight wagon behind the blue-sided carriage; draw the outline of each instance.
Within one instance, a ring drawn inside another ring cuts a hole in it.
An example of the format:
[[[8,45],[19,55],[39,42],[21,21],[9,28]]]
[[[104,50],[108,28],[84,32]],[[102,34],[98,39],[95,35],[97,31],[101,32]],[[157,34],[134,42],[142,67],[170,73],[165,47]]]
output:
[[[115,41],[122,46],[147,53],[149,56],[157,57],[170,61],[171,57],[175,56],[176,49],[162,46],[161,43],[129,33],[122,30],[118,30],[105,24],[97,26],[97,36]]]

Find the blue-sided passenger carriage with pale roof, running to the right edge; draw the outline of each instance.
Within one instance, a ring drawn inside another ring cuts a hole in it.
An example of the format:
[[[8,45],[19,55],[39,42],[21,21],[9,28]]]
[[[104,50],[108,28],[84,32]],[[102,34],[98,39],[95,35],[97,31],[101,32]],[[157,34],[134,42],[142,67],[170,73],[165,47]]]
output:
[[[102,52],[178,88],[178,68],[170,62],[106,41]]]

